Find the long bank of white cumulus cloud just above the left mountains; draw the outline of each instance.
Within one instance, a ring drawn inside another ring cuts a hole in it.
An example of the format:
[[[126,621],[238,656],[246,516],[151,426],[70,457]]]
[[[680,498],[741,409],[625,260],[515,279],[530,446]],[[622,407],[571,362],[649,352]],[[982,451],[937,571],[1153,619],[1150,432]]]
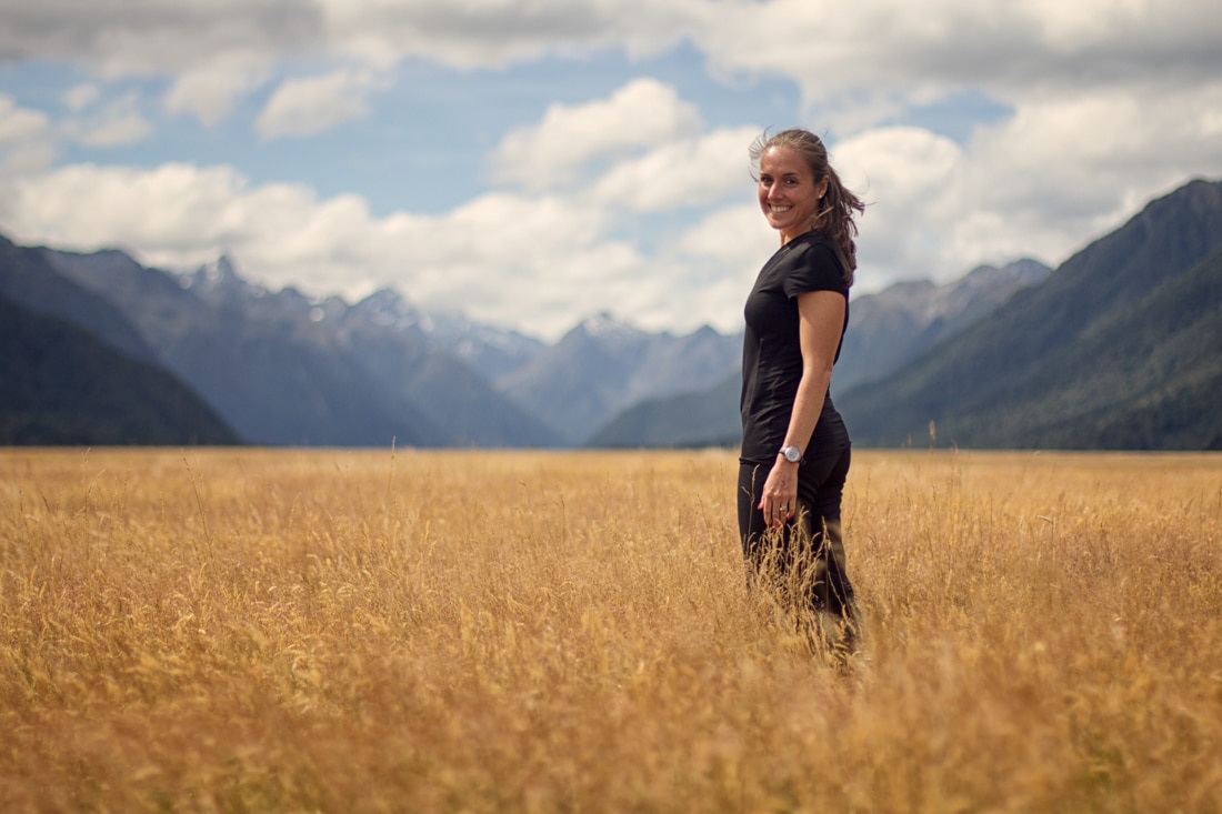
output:
[[[562,198],[489,194],[444,215],[375,218],[357,196],[319,199],[306,186],[254,186],[231,167],[183,164],[26,176],[6,191],[0,222],[17,240],[131,247],[169,269],[226,248],[273,287],[356,298],[396,285],[430,307],[552,336],[574,308],[605,308],[650,265],[605,237],[600,213]]]

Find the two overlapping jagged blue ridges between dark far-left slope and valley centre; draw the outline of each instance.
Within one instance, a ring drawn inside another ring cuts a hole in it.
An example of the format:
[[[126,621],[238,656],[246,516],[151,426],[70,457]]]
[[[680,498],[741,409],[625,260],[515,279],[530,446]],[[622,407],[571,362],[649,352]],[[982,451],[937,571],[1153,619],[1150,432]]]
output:
[[[269,292],[227,258],[176,276],[121,252],[44,249],[105,297],[158,359],[260,445],[453,446],[547,442],[549,430],[469,364],[429,348],[393,297],[356,306]]]

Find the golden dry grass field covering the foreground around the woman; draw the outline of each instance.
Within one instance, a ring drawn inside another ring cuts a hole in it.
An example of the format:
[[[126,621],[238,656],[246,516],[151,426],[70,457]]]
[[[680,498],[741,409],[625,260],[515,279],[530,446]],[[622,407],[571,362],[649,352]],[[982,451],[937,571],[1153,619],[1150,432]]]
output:
[[[0,810],[1222,810],[1222,456],[858,452],[847,675],[734,479],[0,450]]]

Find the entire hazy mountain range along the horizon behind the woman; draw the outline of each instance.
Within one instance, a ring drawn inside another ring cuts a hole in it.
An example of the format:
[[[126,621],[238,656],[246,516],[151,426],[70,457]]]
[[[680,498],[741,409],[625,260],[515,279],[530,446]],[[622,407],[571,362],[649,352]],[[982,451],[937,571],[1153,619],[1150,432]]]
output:
[[[854,297],[832,380],[854,442],[910,444],[932,424],[962,446],[1213,449],[1220,189],[1151,202],[1056,271],[1024,259]],[[640,447],[739,431],[742,336],[710,328],[599,314],[547,345],[392,290],[354,304],[273,292],[227,257],[171,274],[2,237],[0,303],[20,324],[0,332],[5,356],[23,361],[0,368],[0,442]],[[189,420],[141,438],[163,402]]]

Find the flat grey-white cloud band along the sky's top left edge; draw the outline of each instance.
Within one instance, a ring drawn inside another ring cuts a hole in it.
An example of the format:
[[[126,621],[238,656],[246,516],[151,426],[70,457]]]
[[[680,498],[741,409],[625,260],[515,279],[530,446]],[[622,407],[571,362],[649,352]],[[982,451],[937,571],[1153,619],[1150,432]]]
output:
[[[260,59],[425,59],[500,68],[549,54],[657,53],[708,0],[0,0],[0,54],[81,61],[106,76]]]

